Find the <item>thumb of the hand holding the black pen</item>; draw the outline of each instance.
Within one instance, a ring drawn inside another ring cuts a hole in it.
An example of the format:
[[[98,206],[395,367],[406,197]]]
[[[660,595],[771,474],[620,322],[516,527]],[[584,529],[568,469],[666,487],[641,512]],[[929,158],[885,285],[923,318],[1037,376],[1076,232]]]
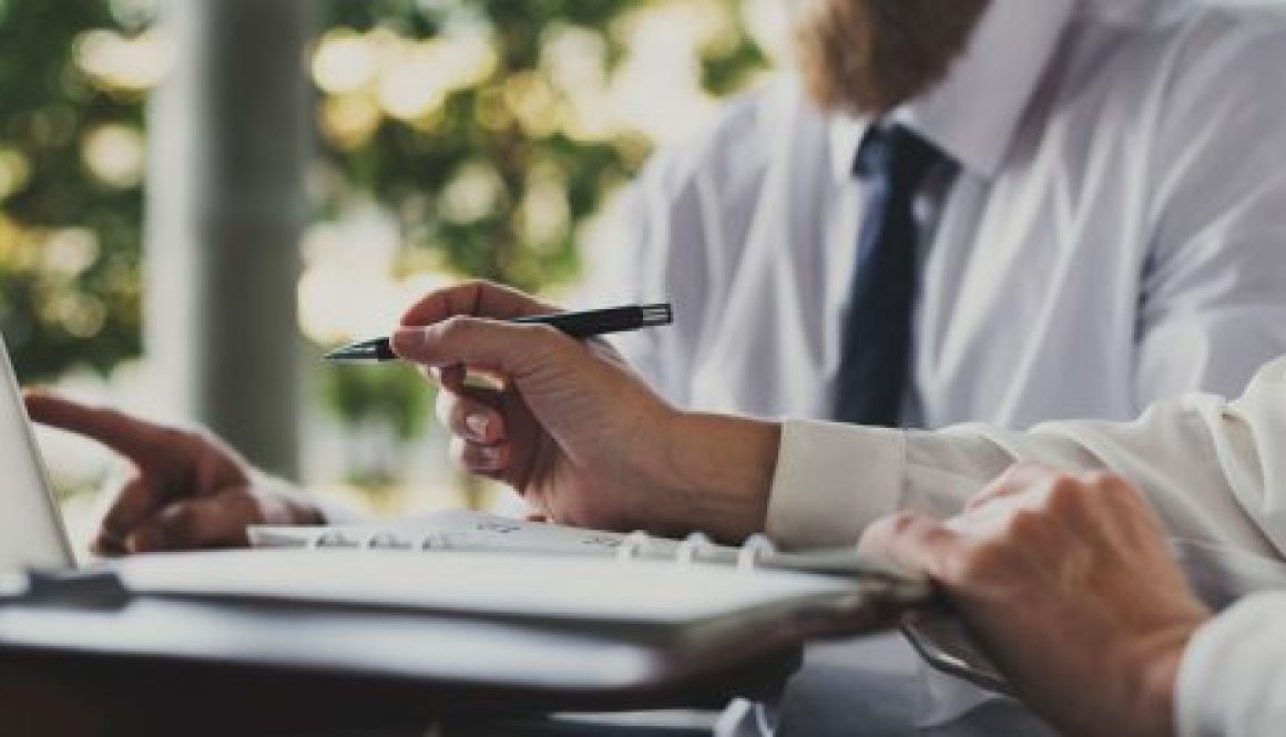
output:
[[[584,346],[548,325],[455,316],[424,327],[400,328],[394,352],[432,368],[466,365],[516,381],[572,360]]]

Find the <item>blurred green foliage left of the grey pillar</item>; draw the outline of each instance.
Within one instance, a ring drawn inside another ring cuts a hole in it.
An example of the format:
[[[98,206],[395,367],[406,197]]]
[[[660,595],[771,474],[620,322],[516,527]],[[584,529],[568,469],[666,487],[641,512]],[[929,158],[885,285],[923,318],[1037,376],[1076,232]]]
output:
[[[138,130],[143,95],[75,60],[90,30],[135,31],[113,10],[0,3],[0,329],[26,381],[139,352],[141,187],[96,176],[84,152],[95,131]]]

